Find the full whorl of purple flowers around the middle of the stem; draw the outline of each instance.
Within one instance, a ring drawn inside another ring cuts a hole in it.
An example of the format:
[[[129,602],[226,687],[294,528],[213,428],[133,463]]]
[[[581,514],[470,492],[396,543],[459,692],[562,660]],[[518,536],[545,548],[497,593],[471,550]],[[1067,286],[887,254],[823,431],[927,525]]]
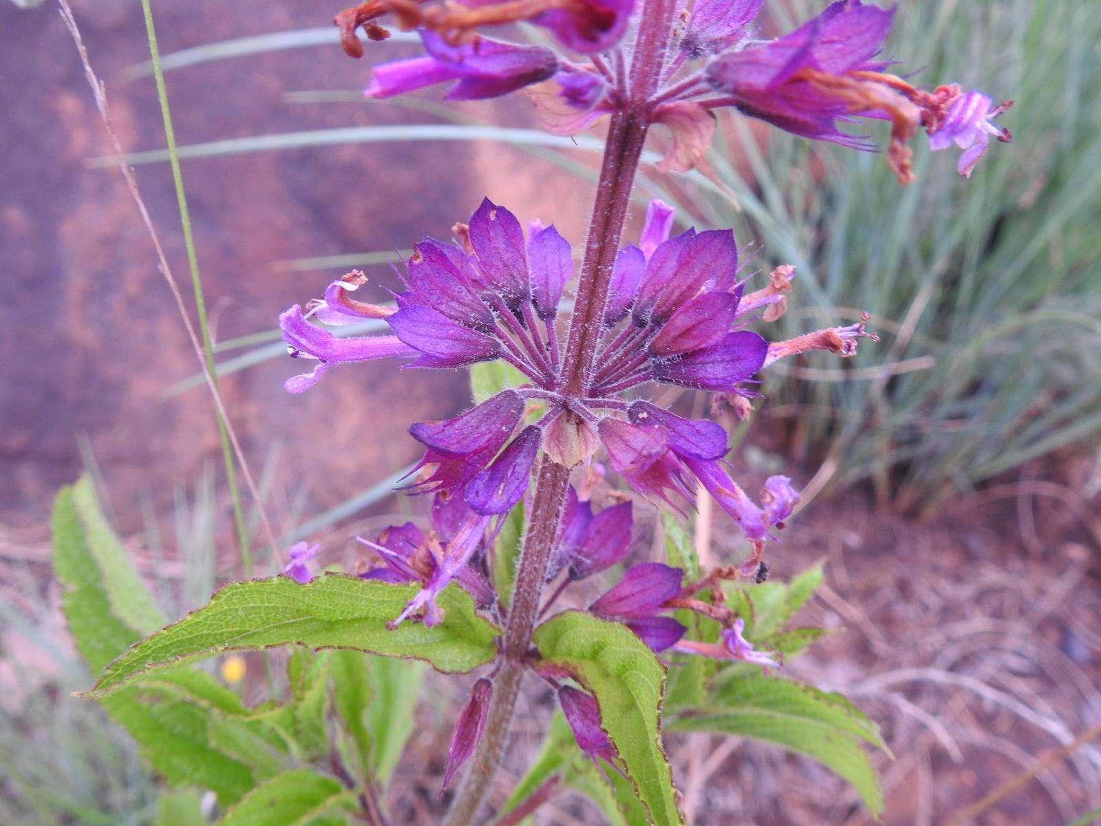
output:
[[[436,530],[426,537],[406,525],[372,543],[385,563],[372,576],[425,585],[399,621],[421,611],[427,622],[437,619],[435,596],[467,576],[501,515],[527,490],[541,449],[575,467],[603,448],[631,488],[676,508],[693,503],[698,481],[749,539],[744,575],[755,573],[764,542],[797,502],[788,479],[768,479],[754,502],[730,476],[721,426],[634,394],[658,382],[752,396],[749,382],[762,367],[808,349],[849,355],[868,334],[861,323],[767,343],[744,326],[781,312],[791,268],[746,293],[730,230],[671,237],[674,214],[662,202],[646,218],[639,243],[617,257],[597,367],[579,393],[567,390],[555,324],[573,273],[569,243],[542,225],[525,237],[515,216],[488,199],[469,225],[457,226],[459,242],[426,238],[414,247],[395,307],[352,300],[364,282],[352,273],[305,311],[295,305],[280,317],[291,355],[318,361],[286,382],[291,392],[313,387],[334,365],[382,357],[411,358],[410,368],[502,359],[527,381],[454,419],[410,428],[425,448],[413,490],[436,496]],[[384,318],[393,335],[339,337],[313,323],[363,318]],[[555,570],[568,564],[570,576],[582,577],[608,567],[625,555],[629,534],[630,506],[593,515],[574,501]],[[484,598],[477,583],[460,583]]]

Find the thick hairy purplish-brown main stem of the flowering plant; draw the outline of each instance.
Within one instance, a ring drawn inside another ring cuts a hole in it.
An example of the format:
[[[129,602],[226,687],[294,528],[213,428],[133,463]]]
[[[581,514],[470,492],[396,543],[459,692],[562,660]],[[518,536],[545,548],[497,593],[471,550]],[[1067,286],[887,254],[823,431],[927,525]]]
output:
[[[656,91],[661,79],[674,8],[673,0],[645,0],[631,62],[630,99],[621,111],[612,116],[608,128],[585,260],[577,286],[577,301],[563,359],[563,393],[566,395],[584,395],[592,374],[602,334],[601,319],[612,265],[650,126],[646,100]],[[516,568],[512,607],[504,629],[501,666],[493,678],[493,698],[490,700],[478,751],[447,813],[445,826],[470,826],[475,822],[501,764],[568,485],[569,469],[544,455],[532,493],[524,547]]]

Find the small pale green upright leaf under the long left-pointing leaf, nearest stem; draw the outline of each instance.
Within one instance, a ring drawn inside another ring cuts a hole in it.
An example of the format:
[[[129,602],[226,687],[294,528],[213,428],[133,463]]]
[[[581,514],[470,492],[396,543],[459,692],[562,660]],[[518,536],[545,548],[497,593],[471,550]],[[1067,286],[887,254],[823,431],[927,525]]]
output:
[[[371,732],[371,765],[383,786],[390,783],[405,741],[413,732],[413,709],[421,698],[424,663],[372,656],[368,665],[371,704],[367,728]]]

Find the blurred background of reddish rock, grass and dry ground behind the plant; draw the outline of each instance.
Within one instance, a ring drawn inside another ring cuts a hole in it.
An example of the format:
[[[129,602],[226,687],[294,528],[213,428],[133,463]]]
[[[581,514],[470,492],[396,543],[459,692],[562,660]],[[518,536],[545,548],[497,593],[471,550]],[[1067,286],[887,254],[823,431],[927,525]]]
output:
[[[73,7],[186,282],[141,7]],[[774,369],[735,464],[749,479],[783,469],[811,500],[770,562],[781,578],[827,562],[807,616],[844,631],[798,675],[883,726],[896,758],[876,758],[887,824],[950,823],[1015,778],[962,822],[1069,824],[1101,806],[1101,739],[1079,738],[1101,735],[1092,7],[901,4],[890,54],[919,69],[917,83],[1016,100],[1004,116],[1014,143],[993,146],[969,182],[949,153],[919,150],[918,183],[900,189],[882,157],[728,117],[705,174],[647,165],[637,187],[629,233],[658,196],[685,225],[733,226],[751,270],[796,267],[770,337],[861,309],[881,335],[843,363],[813,355]],[[766,3],[766,28],[818,8]],[[370,63],[415,46],[395,37],[352,61],[328,26],[336,11],[154,3],[230,417],[284,544],[316,536],[326,562],[353,563],[350,537],[408,508],[389,494],[417,456],[404,428],[464,409],[468,380],[368,363],[287,395],[297,366],[276,315],[352,267],[394,285],[386,263],[423,233],[446,238],[483,195],[578,247],[600,144],[533,131],[519,96],[364,101]],[[166,610],[204,602],[241,576],[214,409],[149,236],[103,160],[111,148],[54,4],[0,0],[0,822],[150,823],[157,780],[98,708],[68,696],[88,674],[57,609],[50,506],[89,474]],[[255,503],[244,506],[257,569],[273,573]],[[437,682],[391,791],[411,823],[436,794],[466,687]],[[526,737],[516,749],[534,748]],[[789,754],[679,735],[671,756],[700,826],[870,822],[838,779]],[[563,798],[538,822],[595,816]]]

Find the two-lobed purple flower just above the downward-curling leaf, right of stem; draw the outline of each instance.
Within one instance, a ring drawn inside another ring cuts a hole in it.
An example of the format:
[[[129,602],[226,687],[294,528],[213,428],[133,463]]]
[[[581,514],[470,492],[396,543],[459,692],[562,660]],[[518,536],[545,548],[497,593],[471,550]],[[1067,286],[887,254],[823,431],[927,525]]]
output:
[[[668,600],[680,595],[683,577],[680,568],[661,563],[634,565],[589,610],[601,619],[624,622],[654,651],[663,651],[685,633],[684,626],[672,617],[657,616]]]

